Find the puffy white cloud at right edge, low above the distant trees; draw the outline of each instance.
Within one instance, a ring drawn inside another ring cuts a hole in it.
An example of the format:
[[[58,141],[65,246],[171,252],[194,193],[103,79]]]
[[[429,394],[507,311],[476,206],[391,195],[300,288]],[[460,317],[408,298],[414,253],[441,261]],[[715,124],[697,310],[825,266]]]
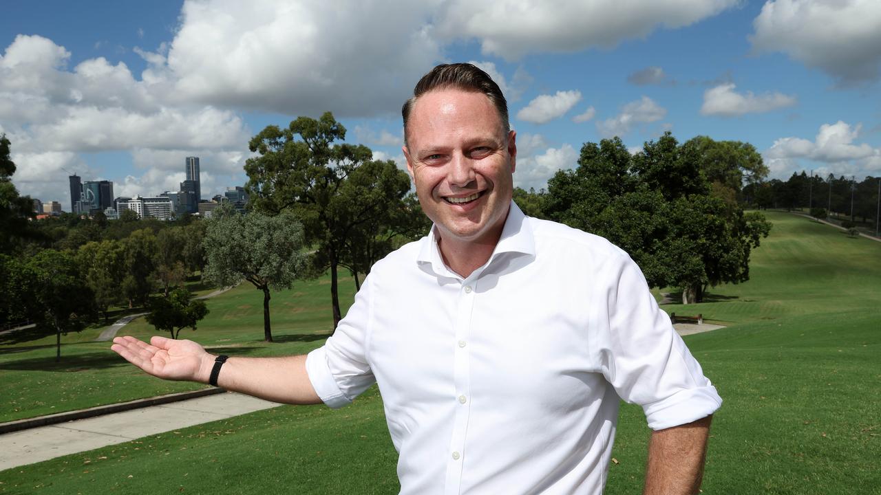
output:
[[[861,124],[851,126],[838,121],[823,124],[813,141],[801,137],[781,137],[762,153],[772,174],[785,176],[797,168],[798,159],[809,159],[826,164],[830,172],[865,174],[881,165],[881,148],[869,144],[855,144]]]

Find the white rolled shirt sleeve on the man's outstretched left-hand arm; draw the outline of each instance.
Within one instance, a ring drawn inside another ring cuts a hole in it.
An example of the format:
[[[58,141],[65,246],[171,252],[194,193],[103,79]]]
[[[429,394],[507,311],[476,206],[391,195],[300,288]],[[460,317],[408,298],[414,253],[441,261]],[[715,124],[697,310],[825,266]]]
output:
[[[315,393],[331,408],[352,403],[374,384],[366,358],[371,317],[370,277],[327,342],[308,353],[306,371]]]

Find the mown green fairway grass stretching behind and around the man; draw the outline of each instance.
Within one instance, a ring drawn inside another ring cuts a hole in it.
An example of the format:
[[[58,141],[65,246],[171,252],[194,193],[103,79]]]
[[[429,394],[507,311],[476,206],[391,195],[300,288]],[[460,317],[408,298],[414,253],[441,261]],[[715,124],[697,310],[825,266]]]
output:
[[[753,252],[750,281],[712,288],[700,305],[664,306],[728,325],[685,337],[724,400],[703,492],[881,493],[881,243],[788,213],[767,217],[774,229]],[[209,317],[181,336],[250,355],[307,351],[329,332],[322,282],[273,296],[280,344],[259,342],[260,294],[244,286],[211,299]],[[143,323],[127,330],[152,333]],[[108,352],[70,343],[63,356],[77,345]],[[14,356],[38,351],[3,348],[4,402],[17,389],[8,373],[24,373]],[[114,380],[163,383],[102,363],[107,377],[124,377]],[[41,372],[42,386],[57,390],[51,384],[71,374],[62,371],[72,370]],[[606,493],[640,491],[647,440],[642,411],[626,405]],[[396,493],[395,462],[372,388],[342,410],[284,406],[9,469],[0,493]]]

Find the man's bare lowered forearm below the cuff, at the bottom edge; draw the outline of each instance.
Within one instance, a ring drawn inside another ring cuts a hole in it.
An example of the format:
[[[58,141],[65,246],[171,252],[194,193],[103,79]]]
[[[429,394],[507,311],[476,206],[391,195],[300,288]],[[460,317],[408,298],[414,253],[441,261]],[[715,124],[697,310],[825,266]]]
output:
[[[652,432],[644,495],[691,495],[700,491],[712,416]]]

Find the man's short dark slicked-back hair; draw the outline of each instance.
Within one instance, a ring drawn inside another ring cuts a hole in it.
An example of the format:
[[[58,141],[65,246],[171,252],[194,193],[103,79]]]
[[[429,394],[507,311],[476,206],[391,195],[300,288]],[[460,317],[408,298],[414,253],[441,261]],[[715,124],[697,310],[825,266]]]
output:
[[[403,103],[401,115],[403,116],[403,144],[407,144],[407,122],[416,100],[426,92],[447,88],[461,89],[468,92],[482,92],[490,99],[493,107],[499,112],[502,128],[505,134],[511,130],[511,124],[507,122],[507,101],[502,94],[499,85],[490,78],[490,75],[480,70],[473,63],[441,63],[419,79],[413,88],[413,97]]]

